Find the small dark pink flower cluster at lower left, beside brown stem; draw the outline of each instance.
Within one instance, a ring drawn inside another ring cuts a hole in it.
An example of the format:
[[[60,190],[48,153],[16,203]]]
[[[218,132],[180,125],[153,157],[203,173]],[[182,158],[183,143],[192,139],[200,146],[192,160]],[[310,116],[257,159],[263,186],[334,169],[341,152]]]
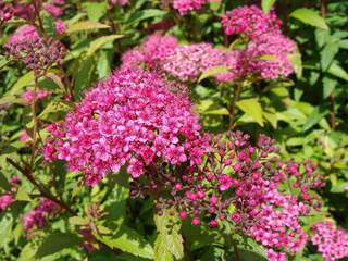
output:
[[[23,228],[26,232],[32,232],[35,227],[42,227],[46,221],[53,214],[59,206],[49,199],[42,198],[40,203],[22,219]]]

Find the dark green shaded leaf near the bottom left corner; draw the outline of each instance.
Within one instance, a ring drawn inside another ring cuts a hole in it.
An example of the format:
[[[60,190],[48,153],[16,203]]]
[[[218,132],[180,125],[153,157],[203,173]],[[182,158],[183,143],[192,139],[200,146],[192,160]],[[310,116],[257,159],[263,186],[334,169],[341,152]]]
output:
[[[44,258],[83,243],[84,240],[73,233],[52,233],[44,239],[35,257]]]

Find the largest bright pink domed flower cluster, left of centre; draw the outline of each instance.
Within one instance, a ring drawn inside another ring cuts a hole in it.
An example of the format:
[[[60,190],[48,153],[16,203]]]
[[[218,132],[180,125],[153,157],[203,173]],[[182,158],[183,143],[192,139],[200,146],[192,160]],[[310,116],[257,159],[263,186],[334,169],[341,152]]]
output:
[[[199,164],[208,146],[184,94],[156,73],[123,69],[85,95],[65,121],[48,129],[47,161],[67,162],[94,186],[109,172],[138,178],[157,162]]]

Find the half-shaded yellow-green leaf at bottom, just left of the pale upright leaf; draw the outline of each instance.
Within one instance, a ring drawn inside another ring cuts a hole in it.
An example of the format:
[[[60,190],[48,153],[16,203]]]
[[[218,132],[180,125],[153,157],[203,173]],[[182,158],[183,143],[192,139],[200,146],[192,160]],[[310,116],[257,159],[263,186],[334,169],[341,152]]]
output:
[[[95,236],[111,248],[120,249],[141,258],[153,259],[153,249],[151,245],[136,231],[125,225],[122,225],[116,234],[96,234]]]

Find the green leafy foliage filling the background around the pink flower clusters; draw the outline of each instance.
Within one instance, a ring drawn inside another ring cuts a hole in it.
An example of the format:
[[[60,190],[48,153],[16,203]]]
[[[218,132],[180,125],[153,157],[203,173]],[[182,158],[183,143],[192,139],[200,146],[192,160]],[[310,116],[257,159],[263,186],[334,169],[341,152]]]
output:
[[[209,41],[219,46],[224,41],[220,16],[225,10],[251,2],[210,3],[200,12],[179,17],[174,11],[161,9],[160,1],[156,0],[132,1],[128,7],[112,12],[105,1],[66,1],[63,21],[69,28],[64,35],[57,36],[52,21],[44,16],[47,32],[60,38],[69,53],[63,63],[64,77],[53,67],[39,82],[40,88],[54,94],[39,108],[39,120],[47,123],[62,120],[73,105],[62,99],[65,89],[71,88],[78,102],[87,88],[120,65],[124,51],[138,46],[152,33],[153,24],[167,20],[174,23],[169,34],[182,42]],[[244,86],[236,103],[235,128],[252,137],[265,133],[276,138],[286,158],[314,160],[327,182],[321,195],[327,206],[325,216],[347,229],[348,1],[256,2],[265,11],[275,3],[285,34],[298,45],[298,54],[291,58],[296,74],[277,82],[250,80]],[[0,44],[22,23],[12,20],[7,24]],[[202,125],[219,133],[227,128],[227,108],[234,94],[228,91],[231,86],[216,86],[210,79],[214,73],[207,72],[190,87]],[[29,109],[23,107],[21,98],[33,82],[33,73],[0,57],[2,188],[8,188],[11,176],[21,176],[7,158],[21,162],[26,161],[29,153],[18,137],[23,129],[33,127]],[[45,137],[44,130],[41,135]],[[95,236],[109,246],[88,254],[88,260],[181,260],[184,253],[191,260],[234,260],[233,249],[224,247],[224,238],[217,237],[214,231],[186,223],[181,227],[177,219],[167,214],[156,216],[151,199],[130,201],[124,173],[108,175],[102,184],[89,188],[83,184],[82,174],[66,172],[61,163],[47,167],[38,156],[35,164],[35,175],[52,188],[53,195],[60,195],[73,206],[76,214],[63,213],[36,237],[27,239],[20,220],[23,212],[38,201],[34,187],[24,182],[16,194],[17,201],[9,211],[0,213],[0,260],[87,260],[78,234],[86,224],[94,224]],[[90,214],[94,204],[104,211],[100,219]],[[306,221],[307,226],[322,219],[311,216]],[[264,260],[262,250],[253,241],[248,239],[240,248],[241,260]],[[295,260],[322,258],[309,246]]]

